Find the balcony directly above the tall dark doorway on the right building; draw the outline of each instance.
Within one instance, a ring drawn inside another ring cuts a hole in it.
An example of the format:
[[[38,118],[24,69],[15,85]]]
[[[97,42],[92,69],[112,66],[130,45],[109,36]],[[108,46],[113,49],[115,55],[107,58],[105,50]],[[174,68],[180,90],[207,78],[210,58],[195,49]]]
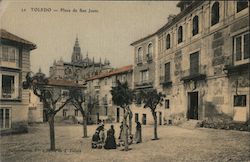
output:
[[[184,83],[187,83],[189,81],[205,80],[207,77],[206,66],[199,66],[196,69],[184,70],[182,71],[181,76],[181,80],[184,81]]]

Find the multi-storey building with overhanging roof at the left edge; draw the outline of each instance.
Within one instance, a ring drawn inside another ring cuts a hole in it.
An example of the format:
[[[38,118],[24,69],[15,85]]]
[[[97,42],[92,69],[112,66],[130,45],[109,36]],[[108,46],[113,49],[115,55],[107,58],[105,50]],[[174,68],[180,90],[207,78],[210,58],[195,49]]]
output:
[[[0,130],[27,131],[29,90],[22,82],[30,71],[30,51],[36,45],[1,29],[0,44]]]

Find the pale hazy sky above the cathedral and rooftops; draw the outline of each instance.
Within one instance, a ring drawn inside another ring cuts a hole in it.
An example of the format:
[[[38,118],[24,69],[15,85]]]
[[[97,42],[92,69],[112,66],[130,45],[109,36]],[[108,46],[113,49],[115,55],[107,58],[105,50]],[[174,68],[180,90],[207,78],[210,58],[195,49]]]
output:
[[[33,72],[41,67],[48,75],[54,60],[70,62],[76,37],[83,57],[88,53],[121,67],[133,64],[130,44],[166,24],[169,14],[178,14],[177,3],[3,0],[0,27],[37,45],[31,51]]]

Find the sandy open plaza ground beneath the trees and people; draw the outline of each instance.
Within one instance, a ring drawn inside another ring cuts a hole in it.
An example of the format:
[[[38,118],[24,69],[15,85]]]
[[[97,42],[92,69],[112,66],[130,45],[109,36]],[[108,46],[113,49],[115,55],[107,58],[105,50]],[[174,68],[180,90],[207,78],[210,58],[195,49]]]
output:
[[[96,125],[88,127],[92,135]],[[110,126],[105,125],[108,129]],[[143,126],[141,144],[130,151],[91,149],[91,137],[82,138],[81,125],[57,125],[56,152],[48,151],[47,124],[34,125],[28,134],[0,139],[2,162],[166,162],[166,161],[250,161],[250,133],[206,128],[185,129],[160,126],[160,140],[152,141],[153,127]],[[115,125],[116,137],[119,125]]]

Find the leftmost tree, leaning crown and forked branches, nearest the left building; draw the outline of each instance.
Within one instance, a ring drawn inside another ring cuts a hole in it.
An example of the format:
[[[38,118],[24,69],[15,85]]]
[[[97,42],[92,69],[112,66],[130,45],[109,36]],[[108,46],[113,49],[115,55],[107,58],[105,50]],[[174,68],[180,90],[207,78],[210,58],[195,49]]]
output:
[[[55,115],[70,102],[71,98],[66,99],[66,101],[61,102],[61,93],[57,93],[55,87],[48,85],[48,79],[45,74],[39,71],[34,76],[31,72],[27,73],[26,81],[23,82],[24,89],[32,89],[33,93],[39,97],[43,102],[43,106],[46,110],[46,115],[48,116],[49,130],[50,130],[50,150],[55,151],[55,128],[54,128],[54,118]]]

